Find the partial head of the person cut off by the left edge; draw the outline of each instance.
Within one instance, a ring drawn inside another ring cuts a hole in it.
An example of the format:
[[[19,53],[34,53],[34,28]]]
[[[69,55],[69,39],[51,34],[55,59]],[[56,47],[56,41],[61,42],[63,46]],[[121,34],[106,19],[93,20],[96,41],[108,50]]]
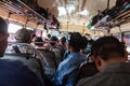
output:
[[[3,56],[8,45],[8,25],[5,20],[0,17],[0,57]]]

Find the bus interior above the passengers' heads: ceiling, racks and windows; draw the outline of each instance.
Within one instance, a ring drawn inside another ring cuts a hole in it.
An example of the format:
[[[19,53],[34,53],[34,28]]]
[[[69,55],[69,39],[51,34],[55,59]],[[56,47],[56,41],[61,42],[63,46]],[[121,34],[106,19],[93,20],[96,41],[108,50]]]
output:
[[[114,35],[125,43],[130,60],[130,0],[0,0],[0,17],[9,25],[9,46],[21,28],[42,39],[69,32],[88,40]]]

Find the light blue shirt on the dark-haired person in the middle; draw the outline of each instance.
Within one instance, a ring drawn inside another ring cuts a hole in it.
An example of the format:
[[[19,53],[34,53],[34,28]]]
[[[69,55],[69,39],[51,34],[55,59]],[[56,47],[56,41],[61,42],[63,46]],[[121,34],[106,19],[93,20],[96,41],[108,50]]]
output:
[[[54,83],[61,86],[74,86],[77,83],[78,69],[86,60],[86,56],[80,53],[73,53],[63,60],[56,71]]]

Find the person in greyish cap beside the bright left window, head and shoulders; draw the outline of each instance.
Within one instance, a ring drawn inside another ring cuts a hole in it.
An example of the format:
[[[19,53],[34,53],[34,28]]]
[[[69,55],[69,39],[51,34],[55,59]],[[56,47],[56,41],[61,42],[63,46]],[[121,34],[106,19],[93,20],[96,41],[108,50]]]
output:
[[[31,43],[31,32],[25,28],[22,28],[16,31],[15,33],[16,43],[24,43],[30,44]],[[34,54],[34,49],[31,45],[23,46],[13,44],[12,46],[8,47],[6,53],[14,53],[14,54]]]

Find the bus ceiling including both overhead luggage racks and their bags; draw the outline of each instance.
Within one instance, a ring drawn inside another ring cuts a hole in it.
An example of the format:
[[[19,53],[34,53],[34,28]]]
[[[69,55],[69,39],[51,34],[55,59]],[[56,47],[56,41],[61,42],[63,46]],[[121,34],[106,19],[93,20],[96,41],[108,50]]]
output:
[[[130,0],[0,0],[0,16],[40,29],[112,32],[120,25],[123,31],[130,22]]]

